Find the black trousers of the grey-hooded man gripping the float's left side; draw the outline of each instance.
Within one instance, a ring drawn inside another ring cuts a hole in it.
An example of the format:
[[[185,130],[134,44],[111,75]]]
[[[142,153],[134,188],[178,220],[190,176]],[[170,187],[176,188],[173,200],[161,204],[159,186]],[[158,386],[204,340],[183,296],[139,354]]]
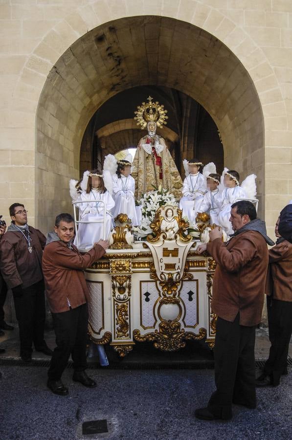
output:
[[[87,368],[86,345],[88,334],[87,304],[66,312],[52,313],[57,347],[54,349],[48,377],[59,380],[72,355],[74,371]]]

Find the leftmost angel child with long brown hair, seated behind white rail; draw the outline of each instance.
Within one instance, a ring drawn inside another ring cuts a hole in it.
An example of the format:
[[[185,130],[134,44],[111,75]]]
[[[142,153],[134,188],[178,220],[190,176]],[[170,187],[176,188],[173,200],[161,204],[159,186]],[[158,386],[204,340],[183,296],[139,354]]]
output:
[[[111,186],[111,177],[108,178],[108,185]],[[89,249],[93,243],[100,239],[107,240],[112,229],[111,210],[114,207],[114,200],[107,190],[104,176],[98,170],[85,171],[83,179],[79,182],[70,180],[70,196],[72,202],[79,208],[79,223],[74,244],[80,249]],[[106,209],[106,224],[104,233],[104,204]],[[98,222],[96,222],[98,221]],[[84,223],[83,223],[84,222]]]

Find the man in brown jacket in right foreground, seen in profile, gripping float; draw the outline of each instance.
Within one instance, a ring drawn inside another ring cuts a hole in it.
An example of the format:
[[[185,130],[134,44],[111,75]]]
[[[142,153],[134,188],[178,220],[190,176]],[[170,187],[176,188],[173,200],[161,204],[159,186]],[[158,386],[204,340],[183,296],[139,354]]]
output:
[[[216,391],[206,408],[195,416],[203,420],[230,419],[232,403],[256,407],[254,343],[260,323],[268,269],[265,222],[256,218],[247,200],[233,203],[230,221],[234,234],[224,243],[217,227],[210,243],[201,244],[217,267],[213,280],[212,311],[216,313],[215,384]]]

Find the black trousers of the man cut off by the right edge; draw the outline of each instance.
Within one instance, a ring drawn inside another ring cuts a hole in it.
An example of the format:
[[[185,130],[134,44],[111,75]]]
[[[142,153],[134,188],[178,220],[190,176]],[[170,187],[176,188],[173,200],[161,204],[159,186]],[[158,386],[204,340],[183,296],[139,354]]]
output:
[[[281,374],[287,370],[287,356],[292,334],[292,302],[267,296],[270,354],[264,372],[271,376],[273,385],[279,385]]]

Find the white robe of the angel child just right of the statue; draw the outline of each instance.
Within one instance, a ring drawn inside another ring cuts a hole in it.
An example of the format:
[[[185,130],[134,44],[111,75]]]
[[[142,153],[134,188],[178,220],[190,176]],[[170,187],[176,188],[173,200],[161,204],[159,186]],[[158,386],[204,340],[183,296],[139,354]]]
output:
[[[201,173],[189,174],[185,177],[182,186],[180,209],[188,220],[195,221],[206,192],[206,179]]]

